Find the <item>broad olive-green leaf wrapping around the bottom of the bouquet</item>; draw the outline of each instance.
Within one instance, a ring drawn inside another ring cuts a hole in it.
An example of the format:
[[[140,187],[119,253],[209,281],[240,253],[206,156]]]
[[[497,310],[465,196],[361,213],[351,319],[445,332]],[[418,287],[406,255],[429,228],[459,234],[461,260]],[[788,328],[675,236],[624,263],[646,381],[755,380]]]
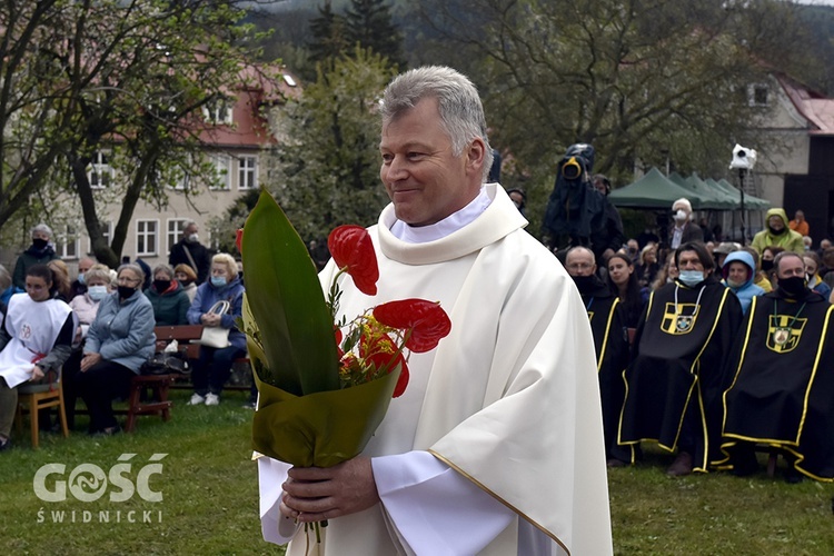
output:
[[[294,396],[262,383],[252,420],[255,449],[297,467],[331,467],[358,456],[383,421],[400,367],[336,391]]]

